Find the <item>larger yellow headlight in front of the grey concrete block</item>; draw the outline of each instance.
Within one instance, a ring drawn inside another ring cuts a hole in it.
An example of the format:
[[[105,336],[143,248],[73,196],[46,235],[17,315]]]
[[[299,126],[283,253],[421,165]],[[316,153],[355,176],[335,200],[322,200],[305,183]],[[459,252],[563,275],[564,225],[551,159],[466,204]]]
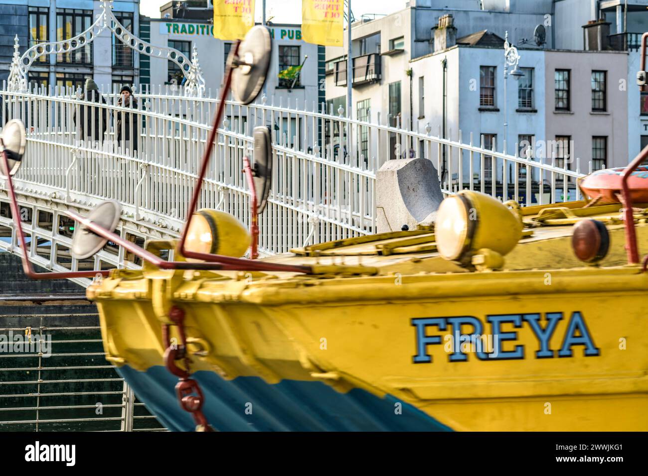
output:
[[[522,237],[522,222],[515,212],[491,196],[471,190],[441,202],[434,229],[439,255],[461,262],[469,262],[480,249],[504,256]]]

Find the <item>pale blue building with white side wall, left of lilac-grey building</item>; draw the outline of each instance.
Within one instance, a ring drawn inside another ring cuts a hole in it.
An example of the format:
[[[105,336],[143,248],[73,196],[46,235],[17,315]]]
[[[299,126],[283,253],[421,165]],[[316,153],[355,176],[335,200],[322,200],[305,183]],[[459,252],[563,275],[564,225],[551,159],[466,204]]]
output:
[[[454,140],[459,139],[461,131],[462,142],[472,140],[473,144],[485,148],[494,146],[500,152],[505,150],[511,154],[516,152],[516,143],[529,142],[531,145],[544,139],[544,52],[522,50],[520,56],[520,69],[529,78],[524,83],[516,81],[510,75],[505,80],[502,48],[455,45],[412,60],[410,65],[415,91],[415,129],[422,131],[430,126],[432,133],[440,133]],[[490,78],[485,78],[490,74]],[[494,80],[492,89],[491,78]],[[524,92],[520,93],[522,86]],[[486,87],[489,88],[487,91]],[[504,137],[507,116],[508,137]],[[459,177],[458,155],[453,155],[452,160],[452,179],[456,183]],[[472,161],[474,176],[480,171],[481,159],[474,155]],[[484,164],[488,178],[492,174],[492,164],[489,160]],[[507,174],[512,177],[513,164],[509,164],[509,168],[511,170]],[[469,154],[464,153],[461,164],[461,179],[464,184],[471,179],[470,170]],[[502,175],[501,166],[496,167],[498,181],[502,180]]]

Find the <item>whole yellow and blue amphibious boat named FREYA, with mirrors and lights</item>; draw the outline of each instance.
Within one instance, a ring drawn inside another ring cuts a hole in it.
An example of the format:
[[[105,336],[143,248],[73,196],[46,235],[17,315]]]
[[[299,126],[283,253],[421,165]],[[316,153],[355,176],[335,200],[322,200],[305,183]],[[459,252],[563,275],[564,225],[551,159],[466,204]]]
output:
[[[249,58],[269,50],[262,27],[237,42],[223,94],[234,76],[253,100],[265,73]],[[627,190],[648,148],[620,172],[619,203],[464,190],[411,231],[241,258],[256,255],[269,150],[255,130],[251,232],[200,210],[178,242],[140,249],[111,232],[118,204],[69,212],[76,256],[111,240],[145,260],[87,295],[106,358],[169,429],[648,430],[648,204]]]

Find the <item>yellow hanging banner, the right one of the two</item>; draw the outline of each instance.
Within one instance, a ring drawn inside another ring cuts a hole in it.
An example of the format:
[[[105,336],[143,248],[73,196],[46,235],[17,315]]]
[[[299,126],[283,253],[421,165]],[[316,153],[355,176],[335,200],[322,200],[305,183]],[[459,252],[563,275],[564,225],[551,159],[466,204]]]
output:
[[[301,34],[316,45],[342,46],[344,0],[303,0]]]

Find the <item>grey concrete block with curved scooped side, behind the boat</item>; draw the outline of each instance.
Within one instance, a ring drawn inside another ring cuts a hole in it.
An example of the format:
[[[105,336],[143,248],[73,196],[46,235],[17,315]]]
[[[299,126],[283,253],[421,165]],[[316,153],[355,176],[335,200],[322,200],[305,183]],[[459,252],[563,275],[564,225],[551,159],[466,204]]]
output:
[[[387,161],[376,173],[377,232],[415,229],[434,221],[443,201],[439,174],[428,159]]]

